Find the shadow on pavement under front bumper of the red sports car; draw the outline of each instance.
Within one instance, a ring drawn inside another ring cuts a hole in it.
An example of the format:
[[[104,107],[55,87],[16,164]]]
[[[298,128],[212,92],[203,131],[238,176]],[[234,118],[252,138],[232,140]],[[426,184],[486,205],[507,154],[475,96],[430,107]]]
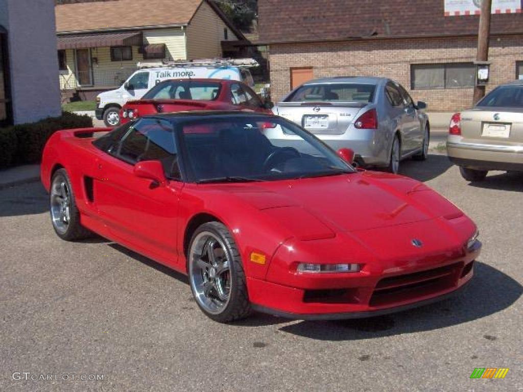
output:
[[[476,262],[474,273],[474,278],[462,292],[432,305],[367,319],[301,321],[283,326],[280,330],[310,339],[331,341],[430,331],[501,312],[523,293],[523,286],[517,281],[487,264]]]

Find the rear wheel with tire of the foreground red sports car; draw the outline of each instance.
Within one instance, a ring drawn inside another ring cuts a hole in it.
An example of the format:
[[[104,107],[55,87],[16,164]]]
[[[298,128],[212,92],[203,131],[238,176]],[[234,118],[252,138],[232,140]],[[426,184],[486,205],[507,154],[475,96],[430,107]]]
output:
[[[80,223],[80,212],[65,169],[56,170],[51,179],[49,211],[54,231],[63,240],[74,241],[91,236],[91,232]]]

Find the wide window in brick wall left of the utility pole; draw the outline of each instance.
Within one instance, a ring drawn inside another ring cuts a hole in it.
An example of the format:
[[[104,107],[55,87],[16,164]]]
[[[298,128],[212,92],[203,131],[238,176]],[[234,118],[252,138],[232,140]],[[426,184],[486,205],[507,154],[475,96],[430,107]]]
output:
[[[412,64],[411,89],[474,87],[473,63]]]

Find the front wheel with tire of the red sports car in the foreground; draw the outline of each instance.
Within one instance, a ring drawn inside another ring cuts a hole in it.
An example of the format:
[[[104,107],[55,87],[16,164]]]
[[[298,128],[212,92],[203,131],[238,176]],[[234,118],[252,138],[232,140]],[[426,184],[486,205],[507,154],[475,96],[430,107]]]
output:
[[[230,322],[251,313],[240,252],[226,226],[209,222],[198,227],[187,264],[192,295],[209,318]]]

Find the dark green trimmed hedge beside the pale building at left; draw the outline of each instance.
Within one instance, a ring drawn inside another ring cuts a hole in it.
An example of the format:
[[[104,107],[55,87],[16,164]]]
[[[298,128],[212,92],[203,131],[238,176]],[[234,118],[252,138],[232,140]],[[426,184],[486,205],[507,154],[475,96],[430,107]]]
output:
[[[39,163],[43,146],[54,132],[92,126],[93,119],[89,116],[63,112],[61,117],[0,128],[0,169]]]

